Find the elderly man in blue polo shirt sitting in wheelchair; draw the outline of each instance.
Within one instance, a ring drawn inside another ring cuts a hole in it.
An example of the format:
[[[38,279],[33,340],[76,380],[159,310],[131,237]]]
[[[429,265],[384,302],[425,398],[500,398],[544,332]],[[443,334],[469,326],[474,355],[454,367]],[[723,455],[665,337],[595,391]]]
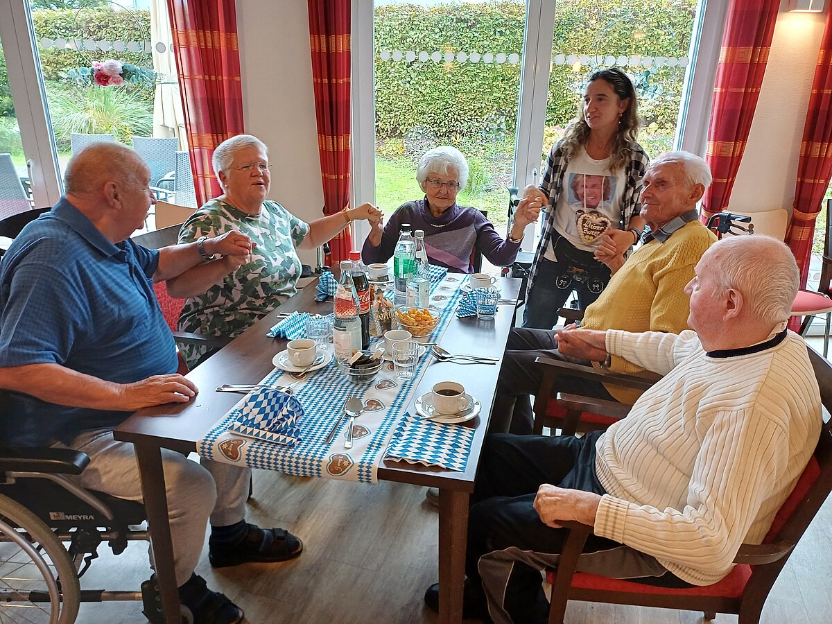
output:
[[[65,196],[27,225],[0,263],[4,443],[83,451],[91,462],[82,486],[130,500],[141,500],[136,457],[112,429],[136,409],[184,403],[197,392],[176,374],[176,346],[153,282],[220,281],[251,252],[249,238],[235,231],[161,250],[136,245],[129,236],[155,202],[149,183],[150,169],[128,147],[87,147],[67,166]],[[205,261],[209,255],[220,259]],[[284,561],[303,545],[283,529],[245,522],[248,469],[162,453],[181,602],[194,622],[241,622],[242,610],[193,573],[206,521],[215,567]]]

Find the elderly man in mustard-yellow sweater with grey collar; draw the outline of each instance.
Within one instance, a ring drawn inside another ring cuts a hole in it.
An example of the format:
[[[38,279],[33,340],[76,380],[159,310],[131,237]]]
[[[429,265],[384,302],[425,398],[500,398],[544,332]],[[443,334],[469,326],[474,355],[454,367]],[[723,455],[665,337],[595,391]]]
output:
[[[650,233],[644,245],[626,261],[621,255],[604,256],[604,263],[614,275],[597,301],[587,307],[582,328],[673,334],[687,329],[685,285],[702,254],[716,241],[716,236],[700,223],[696,211],[696,202],[710,184],[711,170],[690,152],[670,151],[651,162],[641,189],[641,216],[650,226]],[[608,362],[599,362],[572,352],[568,344],[559,347],[551,329],[512,329],[498,379],[491,433],[532,433],[529,394],[537,393],[540,386],[542,370],[534,363],[540,356],[607,366],[621,373],[638,374],[642,370],[617,355]],[[641,394],[639,390],[565,375],[552,389],[553,393],[562,391],[626,404],[633,404]]]

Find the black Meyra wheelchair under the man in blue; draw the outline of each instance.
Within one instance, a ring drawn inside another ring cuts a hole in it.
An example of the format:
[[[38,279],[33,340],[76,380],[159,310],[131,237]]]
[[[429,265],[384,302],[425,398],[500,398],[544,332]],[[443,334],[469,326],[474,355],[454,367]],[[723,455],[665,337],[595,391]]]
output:
[[[142,601],[164,622],[154,582],[140,592],[81,589],[97,549],[121,554],[149,540],[141,503],[79,487],[86,453],[62,448],[0,448],[0,622],[72,624],[81,602]],[[66,546],[65,546],[66,544]],[[183,624],[191,624],[182,609]]]

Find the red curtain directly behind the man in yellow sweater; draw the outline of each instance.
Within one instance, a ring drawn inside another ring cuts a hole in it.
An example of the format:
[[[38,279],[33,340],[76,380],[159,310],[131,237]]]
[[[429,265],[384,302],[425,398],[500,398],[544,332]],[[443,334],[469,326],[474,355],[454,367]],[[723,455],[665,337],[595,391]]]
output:
[[[731,0],[708,128],[706,161],[713,184],[702,198],[702,221],[726,210],[754,118],[780,0]]]

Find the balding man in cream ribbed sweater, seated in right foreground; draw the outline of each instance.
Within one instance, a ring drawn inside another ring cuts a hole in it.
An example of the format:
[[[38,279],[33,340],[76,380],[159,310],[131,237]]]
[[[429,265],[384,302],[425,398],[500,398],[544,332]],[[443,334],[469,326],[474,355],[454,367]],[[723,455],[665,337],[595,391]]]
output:
[[[806,346],[785,329],[799,276],[780,241],[721,240],[696,265],[681,334],[558,333],[587,359],[664,375],[627,418],[583,438],[494,434],[468,517],[466,616],[546,622],[540,570],[565,531],[594,527],[579,572],[710,585],[742,542],[760,543],[820,434]],[[483,591],[484,590],[484,591]],[[425,595],[438,603],[435,586]]]

